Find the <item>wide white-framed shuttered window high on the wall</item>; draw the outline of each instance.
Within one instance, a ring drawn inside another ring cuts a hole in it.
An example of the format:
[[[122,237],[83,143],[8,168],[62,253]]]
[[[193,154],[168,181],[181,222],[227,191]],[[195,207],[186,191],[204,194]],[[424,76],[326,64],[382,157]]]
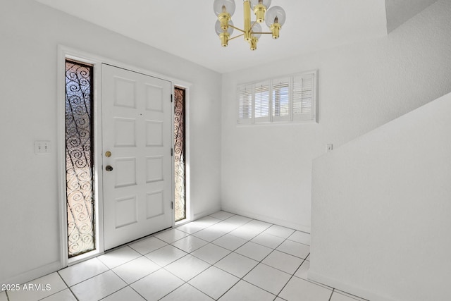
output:
[[[317,121],[318,72],[238,86],[238,123]]]

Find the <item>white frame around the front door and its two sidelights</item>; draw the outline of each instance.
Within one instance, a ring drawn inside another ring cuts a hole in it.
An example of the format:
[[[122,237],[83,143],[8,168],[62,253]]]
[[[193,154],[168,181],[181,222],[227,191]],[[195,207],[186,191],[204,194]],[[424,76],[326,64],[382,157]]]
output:
[[[67,203],[66,203],[66,108],[65,103],[61,101],[61,99],[65,99],[66,97],[66,82],[65,82],[65,74],[66,74],[66,59],[73,59],[75,61],[80,61],[82,63],[89,63],[94,66],[94,74],[93,74],[93,98],[94,98],[94,116],[93,116],[93,124],[94,124],[94,214],[95,214],[95,247],[96,249],[85,254],[78,255],[71,259],[68,258],[68,225],[67,225]],[[57,82],[56,82],[56,118],[57,118],[57,137],[56,137],[56,152],[58,157],[58,211],[59,211],[59,224],[60,224],[60,257],[61,257],[61,268],[66,266],[70,266],[72,264],[76,264],[86,259],[90,259],[92,257],[96,257],[99,254],[104,253],[104,228],[103,228],[103,192],[102,192],[102,153],[101,153],[101,145],[102,145],[102,130],[101,130],[101,104],[102,104],[102,95],[101,95],[101,64],[106,63],[112,66],[116,66],[118,68],[127,69],[133,72],[142,73],[144,75],[149,75],[154,78],[160,78],[161,80],[168,80],[171,82],[171,94],[173,94],[174,86],[185,88],[185,101],[186,108],[185,113],[187,118],[186,128],[187,128],[187,136],[185,140],[186,144],[186,170],[185,176],[187,181],[186,187],[186,202],[187,202],[187,219],[184,221],[180,221],[177,224],[191,221],[193,218],[192,209],[190,206],[190,171],[189,171],[189,162],[190,162],[190,140],[189,140],[189,126],[190,126],[190,111],[189,111],[189,96],[190,96],[190,82],[185,82],[178,78],[171,78],[167,75],[162,75],[159,73],[154,73],[152,71],[146,70],[144,68],[140,68],[137,66],[130,66],[125,63],[121,63],[120,61],[116,61],[113,59],[106,58],[104,56],[97,56],[94,54],[89,54],[85,51],[80,51],[78,49],[73,49],[70,47],[66,47],[64,45],[58,45],[58,62],[57,62]],[[171,112],[171,120],[173,121],[174,112]],[[173,133],[173,122],[171,123],[171,133]],[[173,144],[174,139],[173,135],[171,137],[171,143]],[[171,181],[171,199],[174,197],[174,161],[172,160],[172,181]],[[172,226],[175,226],[175,216],[172,214]]]

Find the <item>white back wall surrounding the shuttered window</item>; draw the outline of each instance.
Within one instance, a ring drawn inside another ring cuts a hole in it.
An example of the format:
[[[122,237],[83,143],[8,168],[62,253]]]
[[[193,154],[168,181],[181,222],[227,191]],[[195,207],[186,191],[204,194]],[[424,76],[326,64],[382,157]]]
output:
[[[327,143],[339,147],[451,91],[450,16],[441,0],[387,37],[223,75],[221,207],[309,232],[311,161]],[[238,83],[312,69],[319,124],[237,126]]]

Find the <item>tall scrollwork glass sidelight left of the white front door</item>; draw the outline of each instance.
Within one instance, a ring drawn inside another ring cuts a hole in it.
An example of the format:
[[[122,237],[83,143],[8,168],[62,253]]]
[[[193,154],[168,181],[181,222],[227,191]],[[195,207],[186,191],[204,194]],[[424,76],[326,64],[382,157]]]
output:
[[[95,249],[92,66],[66,61],[68,255]]]

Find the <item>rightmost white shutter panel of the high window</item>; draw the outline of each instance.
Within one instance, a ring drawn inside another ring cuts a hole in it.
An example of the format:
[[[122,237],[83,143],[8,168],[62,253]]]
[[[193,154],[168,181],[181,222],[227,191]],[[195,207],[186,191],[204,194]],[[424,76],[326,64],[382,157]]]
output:
[[[313,121],[316,118],[316,73],[293,76],[293,120]]]

